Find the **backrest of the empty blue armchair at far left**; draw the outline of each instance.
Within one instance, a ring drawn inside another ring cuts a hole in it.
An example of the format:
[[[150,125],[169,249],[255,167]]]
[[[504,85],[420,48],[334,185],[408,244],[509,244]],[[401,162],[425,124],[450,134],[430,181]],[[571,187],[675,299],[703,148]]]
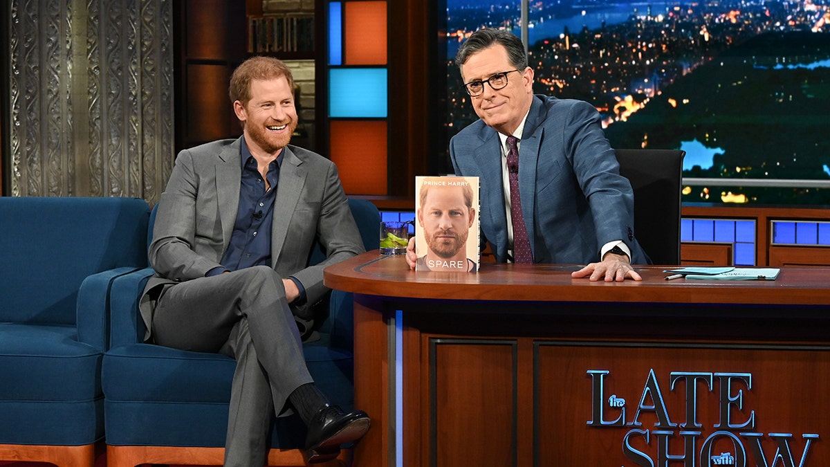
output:
[[[76,324],[87,276],[147,265],[148,218],[144,199],[0,197],[0,322]]]

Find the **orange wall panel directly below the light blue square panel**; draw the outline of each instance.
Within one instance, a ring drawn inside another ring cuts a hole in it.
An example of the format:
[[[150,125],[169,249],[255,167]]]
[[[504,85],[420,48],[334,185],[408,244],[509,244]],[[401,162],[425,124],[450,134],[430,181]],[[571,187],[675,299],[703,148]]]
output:
[[[333,120],[330,156],[346,194],[387,194],[387,123]]]

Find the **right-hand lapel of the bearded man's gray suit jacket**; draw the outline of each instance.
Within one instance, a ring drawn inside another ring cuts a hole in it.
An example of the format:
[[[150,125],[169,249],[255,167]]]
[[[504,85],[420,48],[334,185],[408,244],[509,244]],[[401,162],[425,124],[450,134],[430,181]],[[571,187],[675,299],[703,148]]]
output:
[[[271,268],[275,268],[280,259],[288,235],[288,226],[291,224],[291,215],[300,202],[307,175],[302,167],[303,161],[288,146],[283,151],[285,154],[280,166],[280,180],[276,184],[274,220],[271,224]]]

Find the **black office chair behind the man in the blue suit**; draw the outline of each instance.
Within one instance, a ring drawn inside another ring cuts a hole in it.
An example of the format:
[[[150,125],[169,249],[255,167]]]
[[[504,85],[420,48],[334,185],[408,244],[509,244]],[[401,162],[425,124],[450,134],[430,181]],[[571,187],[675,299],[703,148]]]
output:
[[[634,189],[634,231],[654,264],[680,264],[683,150],[616,150]]]

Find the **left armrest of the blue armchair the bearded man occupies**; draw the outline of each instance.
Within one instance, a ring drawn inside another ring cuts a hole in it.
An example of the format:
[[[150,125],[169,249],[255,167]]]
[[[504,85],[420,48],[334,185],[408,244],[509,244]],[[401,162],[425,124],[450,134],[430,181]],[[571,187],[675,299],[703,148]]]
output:
[[[144,268],[115,278],[110,290],[110,348],[144,342],[139,298],[154,273]]]

